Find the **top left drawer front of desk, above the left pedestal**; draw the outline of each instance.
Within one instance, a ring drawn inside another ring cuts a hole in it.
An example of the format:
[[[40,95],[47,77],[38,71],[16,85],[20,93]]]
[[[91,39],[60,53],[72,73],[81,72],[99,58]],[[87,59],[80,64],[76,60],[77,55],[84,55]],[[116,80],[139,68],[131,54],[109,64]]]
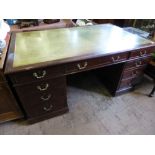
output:
[[[61,75],[64,75],[64,67],[53,66],[48,68],[14,73],[10,74],[9,77],[13,84],[24,84],[50,79]]]

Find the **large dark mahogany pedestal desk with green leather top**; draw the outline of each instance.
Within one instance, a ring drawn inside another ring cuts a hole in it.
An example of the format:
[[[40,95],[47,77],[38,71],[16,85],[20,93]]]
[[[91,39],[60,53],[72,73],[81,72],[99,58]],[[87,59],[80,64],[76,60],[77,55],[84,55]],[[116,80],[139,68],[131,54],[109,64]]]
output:
[[[16,33],[5,74],[33,123],[68,111],[66,75],[100,68],[117,95],[132,89],[154,48],[111,24]]]

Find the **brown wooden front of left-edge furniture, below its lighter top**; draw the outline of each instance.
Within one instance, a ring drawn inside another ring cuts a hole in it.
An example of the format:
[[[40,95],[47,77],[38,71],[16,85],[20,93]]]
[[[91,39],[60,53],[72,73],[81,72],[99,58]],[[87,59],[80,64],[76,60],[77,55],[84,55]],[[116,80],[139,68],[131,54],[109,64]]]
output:
[[[7,83],[0,83],[0,122],[22,117]]]

